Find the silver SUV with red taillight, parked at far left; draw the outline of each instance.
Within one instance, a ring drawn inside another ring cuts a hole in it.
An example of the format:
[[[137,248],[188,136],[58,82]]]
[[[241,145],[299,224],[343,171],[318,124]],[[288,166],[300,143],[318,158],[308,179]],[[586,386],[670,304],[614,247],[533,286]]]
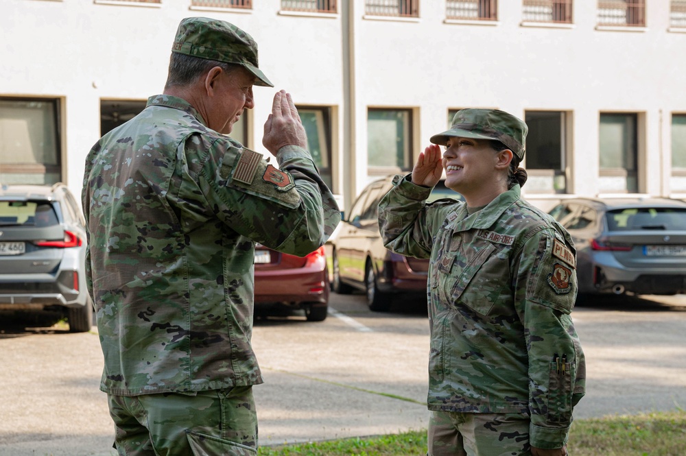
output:
[[[0,310],[59,310],[91,329],[86,224],[64,184],[0,187]]]

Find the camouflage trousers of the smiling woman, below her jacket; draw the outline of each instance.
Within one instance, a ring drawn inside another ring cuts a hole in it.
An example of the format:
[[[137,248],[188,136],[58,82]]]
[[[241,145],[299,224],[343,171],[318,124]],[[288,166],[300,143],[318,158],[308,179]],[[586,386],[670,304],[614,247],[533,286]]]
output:
[[[528,413],[431,411],[428,456],[530,456]]]

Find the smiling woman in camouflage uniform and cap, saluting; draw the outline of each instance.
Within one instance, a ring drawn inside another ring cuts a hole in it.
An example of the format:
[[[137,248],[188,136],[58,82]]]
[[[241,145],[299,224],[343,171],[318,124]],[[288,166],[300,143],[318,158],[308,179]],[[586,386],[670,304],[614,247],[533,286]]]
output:
[[[506,112],[460,110],[379,204],[386,247],[431,260],[431,456],[567,454],[585,392],[576,250],[521,198],[527,130]],[[427,204],[444,170],[464,202]]]

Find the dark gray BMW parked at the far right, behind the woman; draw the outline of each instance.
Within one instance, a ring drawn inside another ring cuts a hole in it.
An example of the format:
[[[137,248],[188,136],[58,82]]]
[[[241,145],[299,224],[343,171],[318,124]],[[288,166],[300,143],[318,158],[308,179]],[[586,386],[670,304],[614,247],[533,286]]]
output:
[[[686,202],[574,198],[550,214],[573,237],[580,293],[686,292]]]

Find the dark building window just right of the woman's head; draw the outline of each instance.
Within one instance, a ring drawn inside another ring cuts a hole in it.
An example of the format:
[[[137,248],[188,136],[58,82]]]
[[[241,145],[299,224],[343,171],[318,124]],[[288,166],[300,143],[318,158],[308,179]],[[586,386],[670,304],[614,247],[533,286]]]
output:
[[[529,127],[524,154],[527,190],[567,193],[567,113],[527,111],[524,121]]]

